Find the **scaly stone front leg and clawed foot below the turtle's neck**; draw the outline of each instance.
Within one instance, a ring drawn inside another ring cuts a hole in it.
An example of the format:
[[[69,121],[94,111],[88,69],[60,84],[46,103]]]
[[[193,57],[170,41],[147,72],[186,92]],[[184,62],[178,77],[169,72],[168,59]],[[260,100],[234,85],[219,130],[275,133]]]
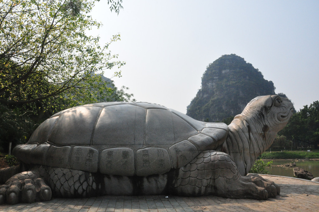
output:
[[[279,194],[280,188],[259,175],[241,176],[229,155],[206,150],[176,170],[172,191],[187,196],[217,195],[265,200]]]

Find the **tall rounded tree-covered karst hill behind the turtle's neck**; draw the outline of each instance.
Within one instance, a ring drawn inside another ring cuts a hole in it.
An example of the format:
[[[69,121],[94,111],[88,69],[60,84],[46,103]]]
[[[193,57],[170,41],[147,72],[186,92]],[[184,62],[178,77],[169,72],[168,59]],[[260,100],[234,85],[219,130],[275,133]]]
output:
[[[273,82],[265,80],[252,64],[235,54],[223,55],[207,66],[187,115],[201,121],[222,121],[240,114],[256,96],[273,94]]]

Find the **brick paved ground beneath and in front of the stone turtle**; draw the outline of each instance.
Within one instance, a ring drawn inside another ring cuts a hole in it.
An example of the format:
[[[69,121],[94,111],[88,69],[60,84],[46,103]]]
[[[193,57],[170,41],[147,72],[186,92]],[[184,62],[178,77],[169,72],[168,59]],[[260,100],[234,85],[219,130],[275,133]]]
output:
[[[1,212],[215,212],[215,211],[319,211],[319,183],[263,176],[281,187],[269,200],[226,199],[216,196],[102,196],[86,199],[53,199],[32,204],[0,205]]]

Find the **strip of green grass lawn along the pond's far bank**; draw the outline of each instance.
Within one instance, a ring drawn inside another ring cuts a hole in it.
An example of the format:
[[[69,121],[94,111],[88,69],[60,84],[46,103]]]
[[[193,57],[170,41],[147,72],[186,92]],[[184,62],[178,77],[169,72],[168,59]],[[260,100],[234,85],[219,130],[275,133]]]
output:
[[[264,152],[259,156],[261,159],[318,159],[319,151],[283,151]]]

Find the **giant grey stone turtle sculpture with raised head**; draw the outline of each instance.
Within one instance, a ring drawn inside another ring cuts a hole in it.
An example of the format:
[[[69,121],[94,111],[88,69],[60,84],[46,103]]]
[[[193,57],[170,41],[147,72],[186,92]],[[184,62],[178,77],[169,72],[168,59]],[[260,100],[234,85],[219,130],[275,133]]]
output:
[[[251,100],[228,126],[146,102],[63,110],[13,149],[21,164],[0,170],[0,203],[52,195],[275,197],[278,185],[247,172],[292,113],[277,95]]]

